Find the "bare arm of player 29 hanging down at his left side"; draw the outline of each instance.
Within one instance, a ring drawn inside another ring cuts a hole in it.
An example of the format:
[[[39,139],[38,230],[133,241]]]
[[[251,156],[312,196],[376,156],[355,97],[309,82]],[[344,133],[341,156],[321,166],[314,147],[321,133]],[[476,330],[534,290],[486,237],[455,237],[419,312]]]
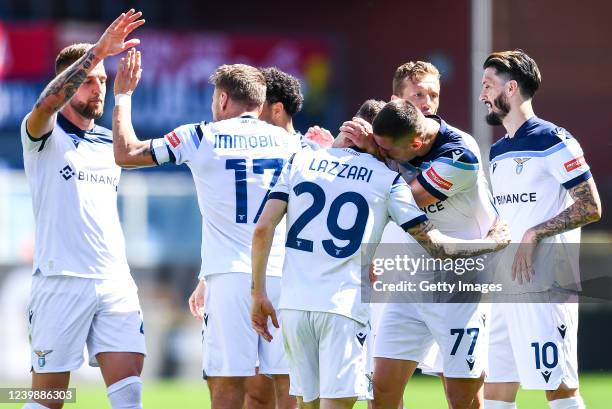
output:
[[[287,212],[287,202],[278,199],[268,199],[255,226],[251,247],[251,263],[253,278],[251,283],[251,323],[255,331],[266,341],[272,340],[268,330],[268,317],[272,324],[279,328],[276,312],[266,293],[266,267],[274,239],[274,230]]]

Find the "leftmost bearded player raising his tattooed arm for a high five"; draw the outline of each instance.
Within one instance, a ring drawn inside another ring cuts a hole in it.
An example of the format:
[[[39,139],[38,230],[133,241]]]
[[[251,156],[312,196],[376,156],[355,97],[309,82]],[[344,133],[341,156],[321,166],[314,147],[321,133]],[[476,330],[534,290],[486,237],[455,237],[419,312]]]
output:
[[[144,23],[129,10],[96,44],[73,44],[21,125],[36,221],[29,307],[32,389],[65,390],[70,372],[99,365],[112,408],[141,408],[145,342],[137,289],[117,213],[121,169],[111,132],[95,124],[106,95],[104,58],[139,44]],[[57,409],[36,399],[24,408]]]

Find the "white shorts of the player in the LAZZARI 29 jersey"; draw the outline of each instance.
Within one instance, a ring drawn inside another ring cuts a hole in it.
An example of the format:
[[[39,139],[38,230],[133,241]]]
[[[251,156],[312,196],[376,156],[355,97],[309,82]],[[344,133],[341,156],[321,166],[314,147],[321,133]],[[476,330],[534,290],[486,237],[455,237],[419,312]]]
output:
[[[282,310],[289,361],[289,394],[317,398],[372,398],[366,372],[369,326],[343,315]]]

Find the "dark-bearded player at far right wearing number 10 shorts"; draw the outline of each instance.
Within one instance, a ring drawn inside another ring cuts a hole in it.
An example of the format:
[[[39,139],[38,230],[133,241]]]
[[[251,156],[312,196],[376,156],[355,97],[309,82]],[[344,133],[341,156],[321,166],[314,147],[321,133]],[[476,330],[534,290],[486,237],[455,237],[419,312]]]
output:
[[[580,227],[601,217],[599,194],[578,141],[533,111],[541,82],[535,61],[521,50],[503,51],[489,55],[483,68],[487,123],[506,130],[490,152],[493,196],[512,241],[521,243],[512,268],[497,278],[516,301],[545,300],[493,304],[485,407],[515,408],[520,383],[545,390],[552,409],[584,408],[578,304],[554,300],[568,278],[560,266],[577,264],[568,254],[580,242]]]

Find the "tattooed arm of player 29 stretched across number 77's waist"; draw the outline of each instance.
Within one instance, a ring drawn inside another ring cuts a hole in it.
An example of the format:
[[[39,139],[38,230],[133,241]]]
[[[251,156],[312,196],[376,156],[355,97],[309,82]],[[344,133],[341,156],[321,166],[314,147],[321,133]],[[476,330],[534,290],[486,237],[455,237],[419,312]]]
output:
[[[508,225],[502,220],[491,227],[484,240],[462,240],[449,237],[429,221],[417,224],[407,232],[435,258],[465,258],[501,250],[510,243]]]

